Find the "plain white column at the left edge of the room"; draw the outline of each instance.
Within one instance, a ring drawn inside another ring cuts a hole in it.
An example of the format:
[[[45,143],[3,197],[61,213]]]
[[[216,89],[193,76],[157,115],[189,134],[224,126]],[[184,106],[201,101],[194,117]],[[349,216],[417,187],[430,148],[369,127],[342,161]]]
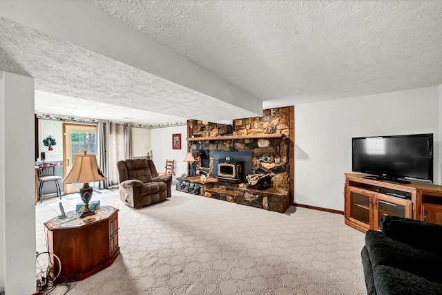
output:
[[[0,291],[34,294],[34,78],[0,72]]]

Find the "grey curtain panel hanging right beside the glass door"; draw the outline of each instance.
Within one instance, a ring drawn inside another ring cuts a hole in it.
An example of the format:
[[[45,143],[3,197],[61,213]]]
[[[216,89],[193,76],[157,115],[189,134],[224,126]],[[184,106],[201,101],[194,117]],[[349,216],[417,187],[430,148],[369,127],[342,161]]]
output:
[[[95,189],[108,189],[111,186],[109,181],[109,154],[108,154],[108,139],[109,139],[109,122],[99,121],[97,125],[97,162],[99,169],[107,176],[105,180],[95,182]]]

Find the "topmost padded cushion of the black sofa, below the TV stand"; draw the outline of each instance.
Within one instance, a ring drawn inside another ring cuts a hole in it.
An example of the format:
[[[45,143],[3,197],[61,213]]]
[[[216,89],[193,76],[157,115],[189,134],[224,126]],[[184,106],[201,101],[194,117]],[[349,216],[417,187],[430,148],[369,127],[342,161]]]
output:
[[[381,222],[381,231],[388,238],[442,255],[439,244],[442,225],[398,216],[385,216]]]

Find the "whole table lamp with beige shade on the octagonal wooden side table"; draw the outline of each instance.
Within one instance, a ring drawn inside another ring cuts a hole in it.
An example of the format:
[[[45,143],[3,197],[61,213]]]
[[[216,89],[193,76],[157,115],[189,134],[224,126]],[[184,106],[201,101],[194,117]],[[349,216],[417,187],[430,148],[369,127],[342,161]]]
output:
[[[89,208],[89,201],[92,198],[93,188],[89,187],[89,182],[105,180],[106,176],[99,170],[95,155],[75,155],[72,169],[68,176],[61,180],[63,183],[81,183],[83,187],[79,190],[81,200],[84,202],[84,210],[79,211],[79,217],[94,215],[95,212]]]

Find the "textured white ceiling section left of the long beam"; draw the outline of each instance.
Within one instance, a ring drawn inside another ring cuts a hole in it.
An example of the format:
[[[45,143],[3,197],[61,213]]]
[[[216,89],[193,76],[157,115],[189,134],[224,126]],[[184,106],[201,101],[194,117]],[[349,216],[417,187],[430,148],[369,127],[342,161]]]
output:
[[[35,101],[39,113],[81,116],[83,112],[82,117],[144,124],[244,117],[242,108],[2,17],[0,70],[35,77],[35,89],[41,91]],[[56,95],[44,97],[46,93]],[[122,113],[133,108],[137,114],[124,117],[146,117],[121,120],[113,115],[115,106],[123,106]],[[90,108],[87,116],[85,107]]]

